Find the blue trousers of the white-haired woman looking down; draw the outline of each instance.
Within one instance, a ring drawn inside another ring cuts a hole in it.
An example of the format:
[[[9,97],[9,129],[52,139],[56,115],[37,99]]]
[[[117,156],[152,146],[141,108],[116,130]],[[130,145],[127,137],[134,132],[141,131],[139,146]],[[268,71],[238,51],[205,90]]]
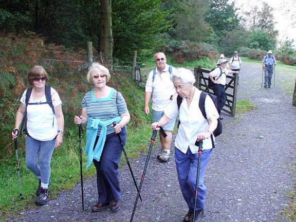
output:
[[[204,150],[201,153],[198,193],[195,211],[204,209],[206,205],[207,187],[204,184],[204,178],[206,167],[210,160],[212,150],[213,149]],[[182,195],[184,197],[184,200],[187,202],[189,211],[193,212],[195,202],[198,153],[192,154],[188,147],[187,153],[184,154],[179,149],[177,149],[177,147],[175,147],[175,161]]]

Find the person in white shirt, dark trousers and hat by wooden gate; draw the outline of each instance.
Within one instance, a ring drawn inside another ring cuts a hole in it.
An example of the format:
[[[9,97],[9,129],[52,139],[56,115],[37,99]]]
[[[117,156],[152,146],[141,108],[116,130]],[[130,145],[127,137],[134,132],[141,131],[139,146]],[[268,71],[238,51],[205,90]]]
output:
[[[226,69],[227,62],[228,61],[226,59],[219,59],[217,62],[218,67],[209,73],[209,79],[214,83],[213,91],[214,95],[217,97],[219,115],[221,114],[221,110],[226,103],[226,76],[228,75],[228,73],[238,73],[238,71]],[[220,119],[222,120],[223,117],[220,116]]]

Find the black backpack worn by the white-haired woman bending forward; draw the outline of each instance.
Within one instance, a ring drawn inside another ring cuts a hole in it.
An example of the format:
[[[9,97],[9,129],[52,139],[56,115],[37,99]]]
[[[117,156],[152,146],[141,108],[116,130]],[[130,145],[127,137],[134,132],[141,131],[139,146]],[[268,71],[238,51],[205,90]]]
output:
[[[213,102],[215,104],[215,107],[217,109],[217,112],[218,112],[217,97],[215,95],[212,95],[212,94],[207,94],[205,92],[201,92],[199,102],[198,102],[198,106],[200,108],[202,116],[204,116],[206,120],[208,120],[207,119],[207,114],[206,114],[206,109],[205,109],[205,101],[206,101],[207,95],[213,100]],[[178,105],[179,109],[180,109],[181,103],[182,103],[182,97],[178,96],[177,97],[177,105]],[[223,131],[222,121],[220,120],[220,118],[218,118],[217,121],[218,121],[217,127],[213,132],[213,135],[215,137],[219,136]],[[180,124],[180,120],[178,122],[178,126],[179,126],[179,124]],[[212,140],[212,147],[215,148],[214,139],[213,139],[212,135],[211,135],[211,140]]]

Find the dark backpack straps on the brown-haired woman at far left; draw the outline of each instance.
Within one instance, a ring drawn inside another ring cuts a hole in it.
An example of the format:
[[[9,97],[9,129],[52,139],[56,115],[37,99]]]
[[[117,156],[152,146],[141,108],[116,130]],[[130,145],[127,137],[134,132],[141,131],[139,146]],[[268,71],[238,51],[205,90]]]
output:
[[[41,102],[41,103],[39,103],[39,102],[38,103],[29,103],[29,99],[31,97],[33,87],[30,87],[30,88],[27,89],[26,99],[25,99],[26,112],[25,112],[23,120],[22,120],[22,125],[21,125],[21,130],[20,130],[20,137],[23,135],[23,133],[28,135],[27,126],[24,128],[24,125],[26,125],[25,123],[26,123],[26,120],[27,120],[27,107],[28,107],[28,105],[48,104],[51,107],[53,114],[55,114],[54,107],[53,107],[53,104],[52,104],[52,99],[51,99],[50,88],[51,87],[49,85],[45,85],[46,102]],[[53,127],[53,124],[54,124],[54,120],[52,121],[52,127]]]

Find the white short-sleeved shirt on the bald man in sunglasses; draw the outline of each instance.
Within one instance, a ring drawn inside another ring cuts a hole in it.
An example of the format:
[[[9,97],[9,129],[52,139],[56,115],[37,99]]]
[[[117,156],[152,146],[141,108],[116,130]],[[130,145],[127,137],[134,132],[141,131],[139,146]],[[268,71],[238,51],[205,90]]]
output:
[[[176,93],[174,84],[171,80],[171,74],[169,72],[170,65],[166,65],[164,70],[159,72],[156,70],[154,81],[152,82],[153,70],[149,73],[145,91],[152,93],[152,109],[155,111],[163,111],[171,100],[171,96]],[[175,71],[176,68],[172,68]]]

